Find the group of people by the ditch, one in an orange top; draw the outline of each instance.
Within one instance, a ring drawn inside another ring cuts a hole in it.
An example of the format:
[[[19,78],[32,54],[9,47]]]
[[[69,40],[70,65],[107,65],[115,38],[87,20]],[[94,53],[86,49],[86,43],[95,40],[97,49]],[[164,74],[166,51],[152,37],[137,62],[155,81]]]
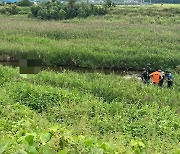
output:
[[[141,78],[145,84],[148,84],[151,79],[153,84],[158,85],[159,87],[163,86],[164,81],[167,81],[168,88],[173,86],[173,76],[171,72],[162,71],[160,68],[152,71],[150,64],[147,64],[146,68],[143,68],[143,70]]]

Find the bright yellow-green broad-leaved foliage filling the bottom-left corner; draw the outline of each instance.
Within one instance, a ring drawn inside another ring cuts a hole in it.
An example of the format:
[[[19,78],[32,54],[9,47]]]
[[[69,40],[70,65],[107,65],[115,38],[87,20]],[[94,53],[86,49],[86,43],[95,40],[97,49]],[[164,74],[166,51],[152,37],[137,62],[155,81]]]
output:
[[[0,152],[23,154],[66,154],[78,152],[115,153],[118,147],[94,136],[72,135],[60,124],[0,94]],[[138,147],[137,147],[138,148]]]

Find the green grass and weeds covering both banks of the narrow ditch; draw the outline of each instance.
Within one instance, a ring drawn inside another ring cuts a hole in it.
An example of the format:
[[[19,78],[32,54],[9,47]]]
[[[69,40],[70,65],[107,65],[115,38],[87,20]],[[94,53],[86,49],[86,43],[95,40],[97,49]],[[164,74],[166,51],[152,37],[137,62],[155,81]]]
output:
[[[0,153],[179,153],[179,9],[118,6],[63,21],[0,15],[0,61],[36,52],[44,65],[140,69],[150,62],[174,75],[168,89],[67,70],[22,78],[18,68],[0,66]]]

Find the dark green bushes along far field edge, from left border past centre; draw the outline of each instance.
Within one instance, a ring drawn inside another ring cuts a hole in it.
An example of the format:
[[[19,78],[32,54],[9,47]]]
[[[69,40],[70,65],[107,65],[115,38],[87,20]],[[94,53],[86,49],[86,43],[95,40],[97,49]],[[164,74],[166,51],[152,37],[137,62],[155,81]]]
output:
[[[60,1],[55,0],[38,3],[36,5],[33,5],[29,0],[22,0],[17,4],[4,4],[4,6],[0,8],[0,13],[6,15],[22,14],[21,10],[24,10],[24,8],[19,6],[31,6],[31,11],[24,14],[28,14],[28,17],[36,17],[44,20],[63,20],[75,17],[85,18],[92,15],[107,14],[107,5],[88,5],[85,3],[77,3],[75,0],[69,0],[68,3],[61,3]]]

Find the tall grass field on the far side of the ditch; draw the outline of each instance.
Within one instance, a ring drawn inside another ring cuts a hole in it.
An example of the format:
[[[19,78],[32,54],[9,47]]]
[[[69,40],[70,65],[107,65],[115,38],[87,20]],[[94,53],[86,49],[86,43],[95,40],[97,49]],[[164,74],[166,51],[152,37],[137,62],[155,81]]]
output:
[[[63,21],[0,15],[0,60],[37,52],[51,66],[175,68],[179,29],[180,5],[117,6],[105,16]]]

